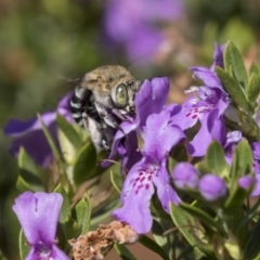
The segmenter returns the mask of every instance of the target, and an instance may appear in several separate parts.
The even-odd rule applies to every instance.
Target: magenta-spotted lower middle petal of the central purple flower
[[[112,213],[118,220],[128,223],[139,234],[150,232],[153,223],[150,200],[154,194],[154,185],[151,174],[146,171],[147,166],[144,160],[132,167],[121,192],[122,207]]]

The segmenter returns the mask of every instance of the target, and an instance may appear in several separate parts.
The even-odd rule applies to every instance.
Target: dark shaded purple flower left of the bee
[[[69,107],[69,101],[72,93],[64,96],[58,105],[56,112],[47,112],[41,115],[41,119],[46,127],[49,129],[54,141],[57,144],[56,136],[56,113],[60,113],[68,121],[73,122],[73,117]],[[20,147],[24,147],[30,155],[36,164],[48,167],[53,158],[52,151],[41,129],[41,123],[38,118],[30,119],[28,121],[20,121],[12,119],[4,128],[4,133],[10,136],[14,136],[15,140],[10,146],[10,152],[17,156]]]

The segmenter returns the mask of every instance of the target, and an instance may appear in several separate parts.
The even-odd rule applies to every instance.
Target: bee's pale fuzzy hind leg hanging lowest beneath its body
[[[107,136],[103,133],[101,125],[93,118],[89,117],[87,113],[82,113],[82,121],[84,129],[90,134],[96,152],[99,153],[101,150],[109,150]]]

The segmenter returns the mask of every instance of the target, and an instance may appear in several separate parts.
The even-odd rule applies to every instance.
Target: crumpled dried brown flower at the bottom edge
[[[113,221],[109,224],[101,224],[96,231],[90,231],[86,235],[68,240],[72,246],[72,259],[74,260],[102,260],[102,248],[118,244],[133,244],[139,235],[130,225]]]

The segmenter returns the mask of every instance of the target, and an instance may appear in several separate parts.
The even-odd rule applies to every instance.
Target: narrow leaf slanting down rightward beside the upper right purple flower
[[[245,109],[247,113],[251,113],[253,110],[253,107],[247,101],[245,92],[242,89],[242,87],[238,84],[238,82],[234,78],[232,78],[229,75],[229,73],[222,69],[221,67],[217,67],[216,73],[221,79],[224,89],[231,95],[232,100],[236,103],[236,105]]]

